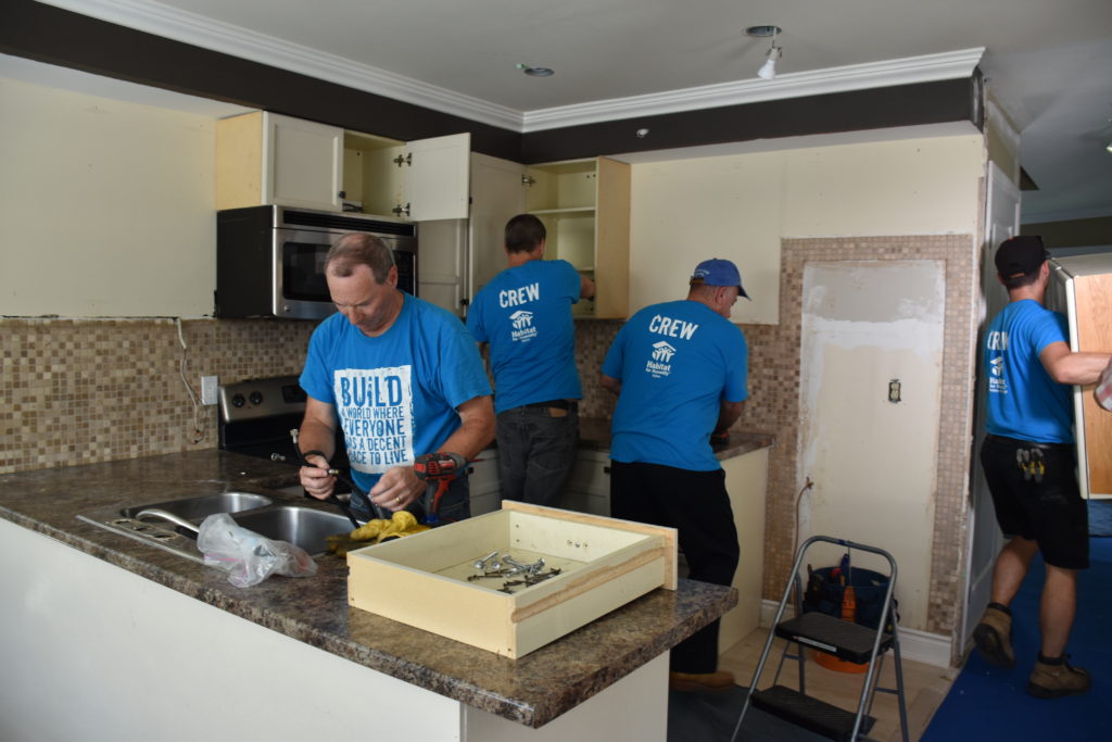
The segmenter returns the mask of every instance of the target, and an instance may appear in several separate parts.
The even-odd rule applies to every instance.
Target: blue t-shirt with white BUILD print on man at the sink
[[[389,329],[368,337],[336,313],[317,327],[300,383],[336,407],[356,484],[437,451],[459,428],[456,407],[488,396],[475,339],[457,317],[404,294]]]

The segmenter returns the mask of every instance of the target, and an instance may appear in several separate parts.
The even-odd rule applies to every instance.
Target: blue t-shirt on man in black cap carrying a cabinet
[[[1033,299],[1012,301],[993,318],[984,339],[989,433],[1073,443],[1071,388],[1052,379],[1039,358],[1059,342],[1069,343],[1065,317]]]

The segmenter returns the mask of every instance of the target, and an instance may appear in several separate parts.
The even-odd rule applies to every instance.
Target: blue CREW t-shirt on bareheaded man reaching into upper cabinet
[[[490,344],[495,412],[550,399],[579,399],[572,305],[579,274],[567,260],[529,260],[483,287],[467,329]]]

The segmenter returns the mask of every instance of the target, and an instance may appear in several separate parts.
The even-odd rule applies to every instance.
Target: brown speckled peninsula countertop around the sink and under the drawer
[[[0,476],[0,517],[218,609],[371,670],[537,728],[733,607],[733,588],[681,580],[530,654],[510,660],[350,607],[347,566],[316,557],[307,578],[254,587],[155,546],[78,521],[79,513],[226,491],[330,509],[276,492],[297,482],[287,464],[201,451]]]

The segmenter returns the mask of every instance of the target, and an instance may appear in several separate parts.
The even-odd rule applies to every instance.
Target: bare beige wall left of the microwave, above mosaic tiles
[[[214,120],[3,78],[0,100],[0,315],[211,315]]]

